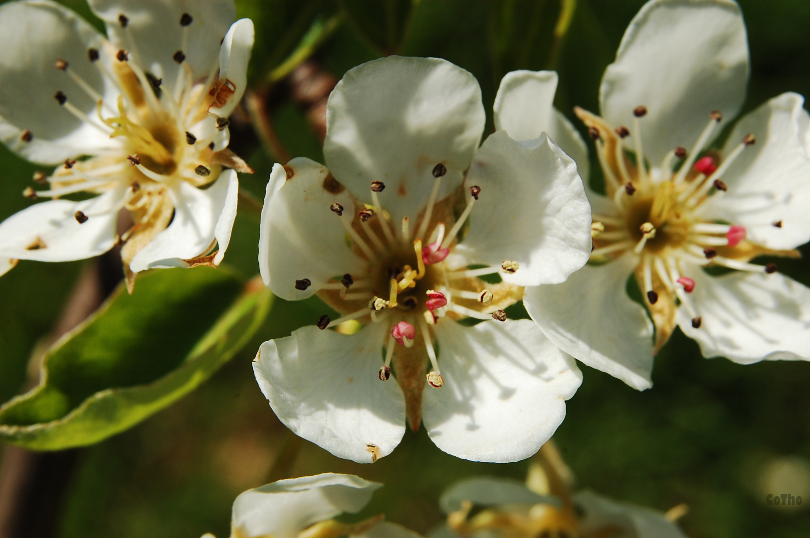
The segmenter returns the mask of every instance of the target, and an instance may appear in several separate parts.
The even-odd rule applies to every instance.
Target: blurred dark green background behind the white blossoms
[[[62,3],[100,26],[83,2]],[[572,117],[573,105],[597,111],[602,72],[643,3],[578,0],[564,36],[555,33],[558,0],[237,0],[237,13],[256,24],[249,76],[281,145],[289,155],[322,162],[307,107],[287,79],[270,76],[313,23],[328,30],[313,60],[335,78],[390,53],[444,57],[470,70],[481,84],[491,126],[497,85],[514,69],[558,70],[557,107]],[[810,2],[740,4],[752,59],[745,110],[782,91],[808,94]],[[241,186],[261,197],[273,159],[245,112],[237,112],[232,125],[232,150],[256,170],[241,175]],[[29,204],[20,193],[34,170],[0,148],[0,219]],[[598,173],[596,163],[591,170]],[[226,263],[250,277],[258,272],[258,218],[244,204],[240,210]],[[780,269],[810,285],[810,249],[803,252],[803,260],[782,261]],[[0,278],[2,401],[30,386],[29,358],[52,330],[86,263],[23,261]],[[524,477],[527,462],[456,460],[433,447],[424,429],[407,431],[394,454],[373,465],[338,460],[296,441],[259,392],[250,360],[261,341],[317,319],[318,303],[276,299],[254,341],[202,388],[134,429],[58,460],[67,462],[66,487],[53,499],[52,536],[181,538],[214,532],[224,538],[231,503],[242,490],[317,472],[382,481],[386,487],[363,515],[384,512],[389,520],[427,532],[441,520],[437,498],[452,481],[476,474]],[[786,483],[779,482],[778,469],[795,481],[810,460],[810,364],[709,361],[678,332],[656,360],[650,391],[636,392],[582,369],[582,388],[555,436],[579,485],[659,510],[685,502],[690,511],[681,525],[693,538],[810,536],[810,487],[805,510],[774,510],[764,502],[767,493],[804,495],[773,489]]]

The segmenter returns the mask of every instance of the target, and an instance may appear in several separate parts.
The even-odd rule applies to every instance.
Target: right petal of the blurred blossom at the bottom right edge
[[[581,531],[586,534],[619,527],[636,538],[686,538],[661,512],[644,506],[616,502],[589,490],[574,494],[573,502],[585,513]]]

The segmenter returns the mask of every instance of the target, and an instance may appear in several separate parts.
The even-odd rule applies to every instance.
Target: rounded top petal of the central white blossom
[[[370,203],[374,180],[394,222],[411,221],[433,189],[433,167],[447,173],[439,198],[463,180],[484,130],[475,77],[438,58],[390,56],[349,70],[329,96],[323,155],[335,177]]]

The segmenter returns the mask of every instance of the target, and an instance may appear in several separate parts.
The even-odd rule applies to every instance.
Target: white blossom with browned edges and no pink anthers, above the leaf
[[[228,116],[245,91],[253,23],[232,0],[89,0],[107,36],[55,2],[0,7],[0,139],[37,173],[0,224],[0,274],[122,242],[127,284],[152,267],[219,265],[237,211]],[[230,27],[230,28],[228,28]],[[227,167],[227,168],[226,168]],[[83,201],[62,197],[96,195]],[[117,235],[117,214],[131,215]]]

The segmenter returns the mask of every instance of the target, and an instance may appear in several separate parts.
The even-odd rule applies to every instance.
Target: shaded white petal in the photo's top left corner
[[[55,2],[0,6],[0,140],[6,146],[35,163],[56,164],[120,145],[54,99],[62,91],[70,104],[96,116],[92,98],[54,62],[68,61],[69,70],[104,95],[104,78],[87,59],[87,49],[103,39],[79,15]],[[25,130],[30,142],[22,139]]]

